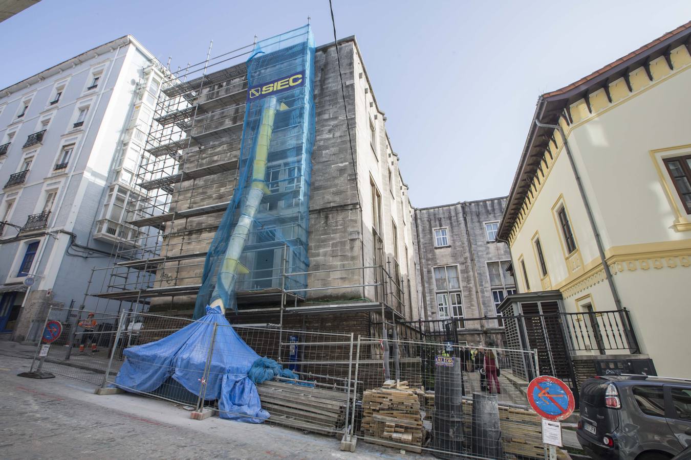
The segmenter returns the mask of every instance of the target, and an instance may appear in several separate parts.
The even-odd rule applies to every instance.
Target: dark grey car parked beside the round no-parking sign
[[[671,459],[691,447],[691,380],[587,379],[580,389],[576,436],[596,459]]]

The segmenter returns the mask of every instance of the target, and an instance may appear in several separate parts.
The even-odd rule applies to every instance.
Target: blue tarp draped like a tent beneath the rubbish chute
[[[247,377],[260,357],[240,339],[219,308],[207,307],[206,311],[205,317],[168,337],[126,348],[115,386],[131,392],[152,392],[172,377],[189,392],[200,394],[216,327],[205,399],[218,399],[222,418],[261,423],[269,413],[261,408],[256,386]]]

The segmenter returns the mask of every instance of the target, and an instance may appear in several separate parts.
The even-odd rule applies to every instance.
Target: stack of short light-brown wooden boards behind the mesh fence
[[[386,381],[362,397],[361,429],[365,441],[422,452],[424,432],[417,388],[408,382]]]

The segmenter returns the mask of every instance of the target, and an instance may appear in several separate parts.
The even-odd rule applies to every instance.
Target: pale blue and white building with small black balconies
[[[145,236],[125,211],[147,193],[133,174],[164,72],[128,35],[0,90],[1,338],[35,339],[47,306],[82,305],[91,269]]]

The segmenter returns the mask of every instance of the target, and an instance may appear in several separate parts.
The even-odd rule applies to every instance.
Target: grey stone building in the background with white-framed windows
[[[509,248],[497,241],[505,204],[500,197],[415,209],[419,290],[430,331],[453,319],[461,343],[501,343],[496,308],[516,292]]]

